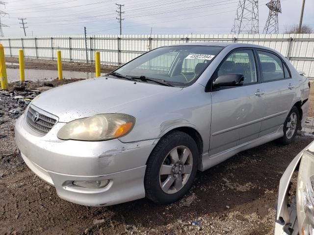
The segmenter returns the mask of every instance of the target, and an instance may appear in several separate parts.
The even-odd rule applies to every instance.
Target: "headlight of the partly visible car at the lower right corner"
[[[314,155],[301,159],[297,183],[297,218],[300,235],[314,235]]]

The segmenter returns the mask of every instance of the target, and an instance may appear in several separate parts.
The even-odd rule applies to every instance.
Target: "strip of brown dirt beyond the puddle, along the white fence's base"
[[[19,58],[17,57],[7,57],[5,62],[8,63],[19,63]],[[25,69],[36,69],[36,70],[57,70],[56,60],[39,60],[39,59],[24,59]],[[11,69],[19,69],[19,65],[6,66]],[[101,72],[110,72],[117,67],[101,65]],[[78,62],[67,62],[62,61],[62,69],[64,71],[84,71],[84,72],[94,72],[95,64],[86,64]]]

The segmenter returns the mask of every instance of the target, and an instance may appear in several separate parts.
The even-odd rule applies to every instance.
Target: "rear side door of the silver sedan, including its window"
[[[276,132],[284,124],[295,94],[288,67],[274,52],[257,49],[263,81],[265,114],[260,137]]]

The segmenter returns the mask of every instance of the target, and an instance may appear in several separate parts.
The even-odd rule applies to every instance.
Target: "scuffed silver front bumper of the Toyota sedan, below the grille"
[[[45,136],[30,129],[21,116],[15,139],[27,166],[53,185],[59,197],[86,206],[109,206],[145,197],[146,161],[158,140],[123,143],[62,141],[57,123]],[[72,182],[110,180],[105,188],[82,188]]]

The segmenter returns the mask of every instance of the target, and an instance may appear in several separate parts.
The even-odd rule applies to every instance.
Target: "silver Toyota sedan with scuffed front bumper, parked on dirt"
[[[268,141],[293,141],[310,83],[273,49],[160,47],[37,96],[15,125],[29,168],[68,201],[179,200],[204,171]]]

